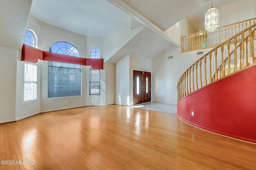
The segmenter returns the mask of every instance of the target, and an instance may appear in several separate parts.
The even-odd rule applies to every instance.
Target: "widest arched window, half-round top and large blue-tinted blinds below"
[[[80,57],[78,49],[67,42],[54,43],[49,51]],[[81,96],[81,72],[81,65],[49,61],[48,98]]]

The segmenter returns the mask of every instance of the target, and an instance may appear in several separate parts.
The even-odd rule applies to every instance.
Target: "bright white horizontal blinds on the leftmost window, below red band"
[[[37,65],[24,64],[24,101],[36,100],[37,94]]]

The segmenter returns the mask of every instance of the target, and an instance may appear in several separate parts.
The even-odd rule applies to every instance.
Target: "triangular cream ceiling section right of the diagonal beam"
[[[170,28],[209,0],[122,0],[162,31]]]

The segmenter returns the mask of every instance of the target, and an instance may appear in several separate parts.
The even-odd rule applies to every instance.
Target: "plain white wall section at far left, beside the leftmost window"
[[[0,46],[0,123],[15,121],[18,50]]]

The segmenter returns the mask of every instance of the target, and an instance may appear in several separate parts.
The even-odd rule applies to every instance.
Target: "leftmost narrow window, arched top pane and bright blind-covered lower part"
[[[25,32],[26,45],[35,47],[35,37],[29,30]],[[37,98],[37,64],[24,63],[24,97],[23,101],[36,100]]]

